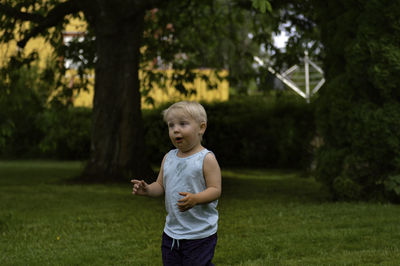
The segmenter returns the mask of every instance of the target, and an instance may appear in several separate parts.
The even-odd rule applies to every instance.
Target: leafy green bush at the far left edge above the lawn
[[[44,109],[45,91],[38,86],[37,66],[14,59],[0,68],[0,156],[21,158],[37,153],[42,138],[35,119]]]

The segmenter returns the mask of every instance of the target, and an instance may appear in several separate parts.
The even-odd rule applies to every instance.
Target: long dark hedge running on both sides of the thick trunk
[[[203,144],[216,154],[221,166],[306,168],[310,165],[310,142],[315,132],[312,104],[246,97],[203,105],[208,115]],[[155,166],[173,148],[161,116],[167,106],[143,111],[147,156]],[[91,109],[44,110],[15,129],[15,136],[10,136],[0,155],[85,160],[89,158],[90,130]],[[35,136],[35,142],[29,141],[31,136]],[[18,152],[4,152],[7,150]]]

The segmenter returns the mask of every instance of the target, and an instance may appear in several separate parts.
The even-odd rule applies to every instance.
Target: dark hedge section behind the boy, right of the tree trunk
[[[208,128],[204,145],[223,166],[306,168],[315,133],[313,105],[297,100],[267,101],[244,97],[204,103]],[[144,112],[146,144],[152,163],[159,164],[172,147],[161,111]]]

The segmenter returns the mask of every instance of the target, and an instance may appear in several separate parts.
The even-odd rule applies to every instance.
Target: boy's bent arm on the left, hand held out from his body
[[[143,180],[136,180],[136,179],[131,180],[131,182],[133,183],[132,194],[150,196],[150,197],[158,197],[164,195],[164,186],[163,186],[164,161],[165,161],[165,156],[162,160],[157,180],[151,183],[150,185],[144,182]]]

